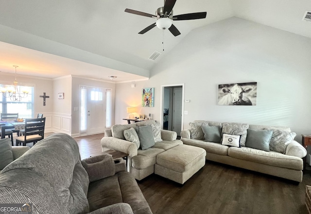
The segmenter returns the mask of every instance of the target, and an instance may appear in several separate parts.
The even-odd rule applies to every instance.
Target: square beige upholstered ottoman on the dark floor
[[[184,184],[205,165],[206,150],[178,145],[156,156],[155,174]]]

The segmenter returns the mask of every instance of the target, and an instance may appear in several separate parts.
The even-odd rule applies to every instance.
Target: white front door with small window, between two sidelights
[[[87,87],[86,134],[105,130],[105,93],[103,88]]]

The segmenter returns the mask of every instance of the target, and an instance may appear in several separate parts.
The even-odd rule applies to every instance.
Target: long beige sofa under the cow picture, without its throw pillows
[[[202,123],[206,123],[209,126],[219,126],[222,128],[222,132],[224,130],[222,127],[224,123],[220,122],[196,120],[192,124]],[[288,127],[271,127],[260,125],[247,125],[246,127],[247,130],[272,129],[291,132],[290,128]],[[241,148],[228,147],[222,145],[220,142],[214,143],[206,142],[204,139],[191,139],[193,138],[191,136],[191,132],[195,133],[194,129],[195,127],[183,130],[181,132],[181,140],[184,144],[204,148],[207,151],[207,160],[237,166],[240,168],[245,168],[293,181],[302,181],[302,158],[307,155],[307,151],[303,146],[294,140],[287,145],[286,151],[284,153],[280,153],[277,151],[264,151],[256,148],[248,148],[245,146],[242,146]]]

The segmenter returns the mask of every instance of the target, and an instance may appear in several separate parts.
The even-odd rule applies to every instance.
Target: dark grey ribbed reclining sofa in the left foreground
[[[0,174],[0,203],[32,206],[33,214],[152,214],[123,159],[80,160],[76,141],[52,134]]]

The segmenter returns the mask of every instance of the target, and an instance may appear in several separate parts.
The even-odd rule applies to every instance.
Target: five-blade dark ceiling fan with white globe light
[[[169,31],[174,35],[180,35],[180,32],[177,30],[177,28],[173,25],[172,21],[178,21],[178,20],[191,20],[191,19],[200,19],[200,18],[206,18],[207,12],[200,12],[200,13],[191,13],[191,14],[182,14],[173,16],[173,7],[175,5],[176,0],[164,0],[164,7],[160,7],[156,10],[155,15],[147,14],[144,12],[131,10],[131,9],[125,9],[125,12],[136,14],[139,16],[147,16],[151,18],[156,18],[156,22],[152,25],[149,25],[145,29],[143,29],[139,34],[144,34],[151,29],[153,29],[155,26],[159,29],[169,29]]]

